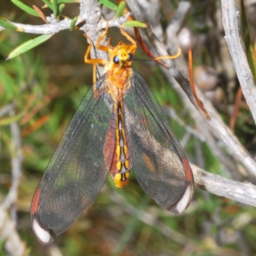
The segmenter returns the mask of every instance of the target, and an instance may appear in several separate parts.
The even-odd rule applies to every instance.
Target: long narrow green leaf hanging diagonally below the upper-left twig
[[[24,44],[19,45],[16,47],[10,54],[8,55],[8,58],[6,60],[10,60],[12,58],[15,58],[19,54],[22,54],[26,51],[29,51],[30,49],[35,48],[37,45],[40,45],[47,41],[49,38],[51,38],[54,34],[47,34],[47,35],[40,35],[34,39],[28,40]]]

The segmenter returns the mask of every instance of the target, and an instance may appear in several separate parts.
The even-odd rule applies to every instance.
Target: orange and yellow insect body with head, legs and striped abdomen
[[[104,65],[104,73],[106,74],[106,92],[108,92],[113,100],[113,113],[116,114],[115,118],[111,118],[111,124],[109,125],[106,143],[104,145],[104,157],[106,166],[109,166],[109,172],[111,173],[111,177],[115,182],[116,187],[124,188],[128,183],[129,171],[132,168],[132,164],[124,127],[123,97],[131,88],[131,80],[129,79],[132,75],[131,56],[133,56],[136,51],[137,45],[131,36],[125,33],[122,29],[121,33],[132,42],[132,45],[125,45],[122,41],[120,41],[116,47],[111,47],[110,45],[109,47],[104,47],[99,45],[107,31],[108,30],[106,29],[100,36],[97,42],[97,48],[102,49],[103,51],[108,51],[109,60],[111,61],[106,62],[99,59],[88,60],[90,47],[88,47],[88,50],[86,51],[84,61],[86,63],[98,63]]]

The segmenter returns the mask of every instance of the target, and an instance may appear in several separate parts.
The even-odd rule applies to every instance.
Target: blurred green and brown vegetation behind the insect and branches
[[[31,2],[42,6],[40,0],[24,1],[30,5]],[[215,43],[220,38],[213,37],[214,26],[217,26],[215,15],[220,12],[220,6],[216,1],[206,1],[207,5],[204,1],[192,2],[193,8],[184,26],[188,30],[183,33],[189,31],[191,40],[201,45],[194,54],[195,79],[199,79],[197,83],[200,84],[200,76],[213,76],[206,79],[215,79],[213,85],[202,83],[211,89],[202,87],[202,90],[210,95],[228,124],[239,83],[234,77],[231,82],[227,81],[230,76],[216,68],[214,54],[218,44]],[[163,27],[172,19],[178,4],[179,1],[174,0],[161,1]],[[1,0],[0,6],[0,15],[9,20],[43,24],[11,1]],[[249,7],[253,8],[252,13],[256,12],[253,4]],[[51,12],[44,10],[44,13]],[[67,4],[65,15],[74,17],[78,13],[78,4]],[[254,43],[256,22],[251,23],[254,24],[250,26]],[[118,42],[119,35],[117,30],[110,29],[112,41]],[[174,216],[160,209],[143,193],[133,173],[124,189],[115,188],[108,179],[93,205],[79,216],[74,226],[59,237],[54,236],[54,244],[42,246],[31,229],[31,200],[68,122],[92,85],[92,67],[84,64],[88,45],[81,31],[61,31],[35,49],[5,61],[9,52],[30,38],[33,35],[8,29],[0,32],[0,114],[13,106],[12,111],[0,116],[0,204],[12,185],[13,134],[10,125],[13,122],[19,125],[23,156],[17,204],[11,205],[0,225],[4,226],[7,218],[14,221],[26,250],[24,255],[256,255],[255,208],[196,189],[194,200],[184,214]],[[182,41],[182,33],[180,38]],[[146,58],[140,51],[137,54],[137,58]],[[134,63],[134,68],[147,79],[162,106],[172,107],[184,123],[193,126],[182,100],[155,63]],[[228,88],[227,84],[232,87]],[[234,131],[244,147],[254,154],[255,124],[243,99],[236,116]],[[184,127],[175,120],[171,124],[189,161],[204,163],[205,170],[226,175],[206,143],[194,136],[186,140]],[[202,152],[200,160],[196,154],[198,147]],[[0,228],[0,255],[8,255],[5,249],[8,237],[2,232],[3,226]]]

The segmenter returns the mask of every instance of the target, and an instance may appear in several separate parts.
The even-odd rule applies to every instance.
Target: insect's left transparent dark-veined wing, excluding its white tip
[[[111,99],[104,90],[104,77],[97,82],[97,91],[97,99],[92,88],[86,93],[40,181],[36,191],[40,196],[33,202],[38,209],[32,204],[40,226],[56,234],[67,230],[92,204],[108,175],[103,148]]]

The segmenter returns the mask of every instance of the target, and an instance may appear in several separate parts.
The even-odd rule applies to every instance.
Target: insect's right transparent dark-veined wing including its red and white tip
[[[163,110],[136,71],[124,96],[124,113],[132,166],[141,188],[164,209],[181,213],[193,196],[191,168]]]

